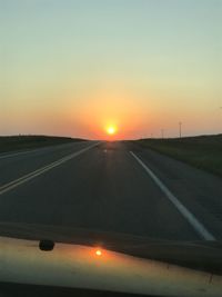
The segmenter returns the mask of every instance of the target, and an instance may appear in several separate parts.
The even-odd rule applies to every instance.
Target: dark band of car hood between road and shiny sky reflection
[[[178,241],[61,226],[0,224],[0,236],[101,247],[144,259],[222,275],[222,241]]]

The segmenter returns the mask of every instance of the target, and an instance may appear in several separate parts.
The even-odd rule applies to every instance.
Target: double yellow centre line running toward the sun
[[[52,162],[50,165],[41,167],[41,168],[39,168],[39,169],[37,169],[37,170],[26,175],[26,176],[22,176],[22,177],[20,177],[18,179],[14,179],[14,180],[1,186],[0,187],[0,195],[2,195],[4,192],[8,192],[8,191],[17,188],[18,186],[20,186],[20,185],[22,185],[22,184],[24,184],[24,182],[38,177],[38,176],[51,170],[52,168],[58,167],[58,166],[60,166],[60,165],[62,165],[62,164],[64,164],[64,162],[67,162],[67,161],[69,161],[71,159],[75,158],[77,156],[79,156],[79,155],[85,152],[87,150],[98,146],[99,143],[100,142],[97,142],[97,143],[94,143],[92,146],[89,146],[87,148],[83,148],[83,149],[81,149],[81,150],[79,150],[79,151],[77,151],[74,154],[68,155],[68,156],[65,156],[65,157],[63,157],[63,158],[61,158],[61,159],[59,159],[59,160],[57,160],[57,161],[54,161],[54,162]]]

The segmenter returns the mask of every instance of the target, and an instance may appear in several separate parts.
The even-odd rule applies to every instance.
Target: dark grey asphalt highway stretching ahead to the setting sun
[[[124,141],[1,155],[0,221],[221,239],[222,182]]]

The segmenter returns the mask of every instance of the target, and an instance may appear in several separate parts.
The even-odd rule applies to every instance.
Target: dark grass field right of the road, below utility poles
[[[222,135],[141,139],[137,142],[222,177]]]

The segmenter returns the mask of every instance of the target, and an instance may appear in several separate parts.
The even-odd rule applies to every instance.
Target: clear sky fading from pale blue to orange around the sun
[[[222,132],[221,0],[0,0],[0,135]]]

